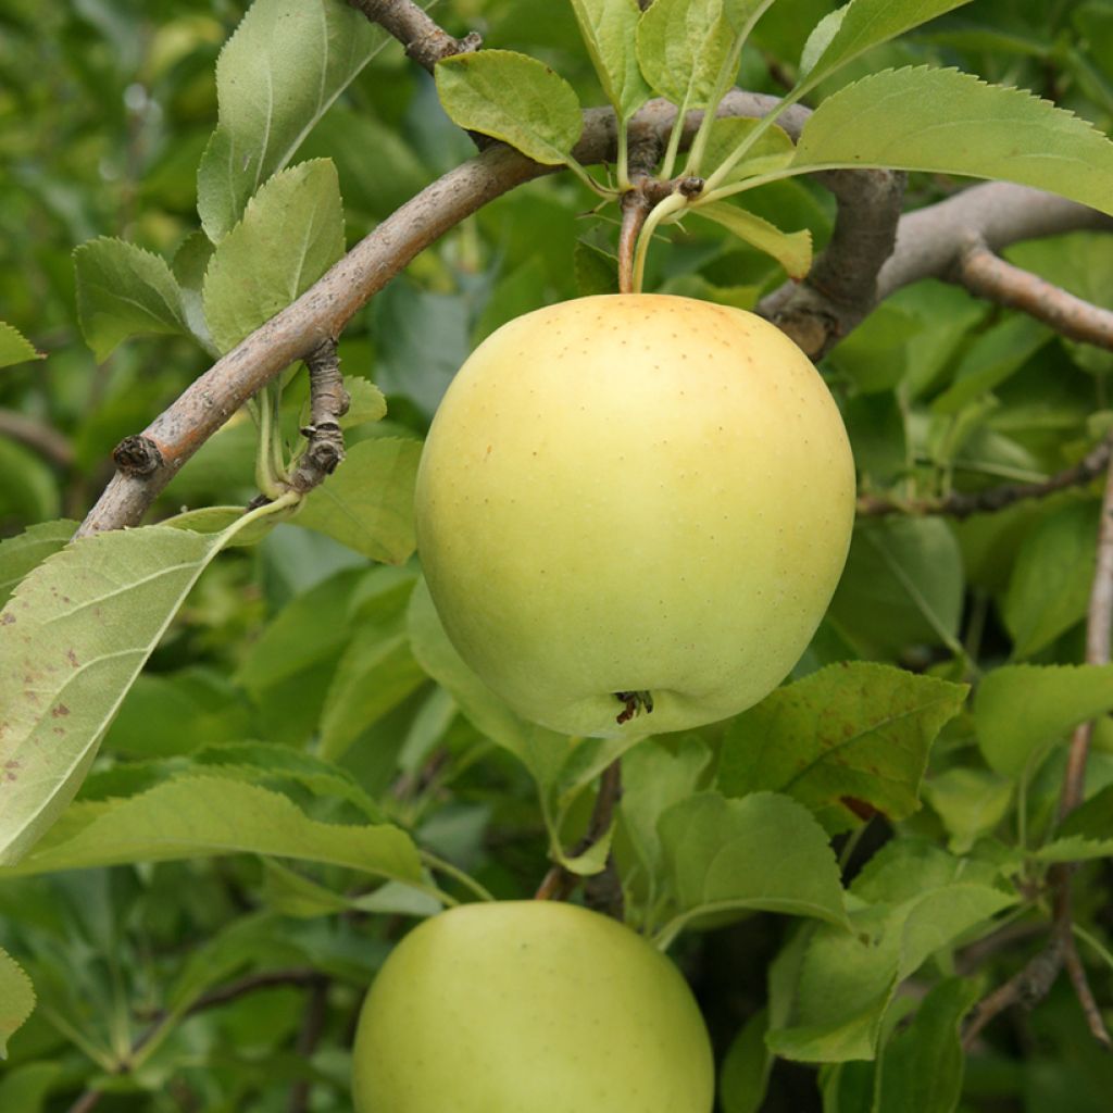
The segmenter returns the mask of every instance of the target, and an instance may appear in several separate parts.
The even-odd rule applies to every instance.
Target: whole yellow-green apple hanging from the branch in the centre
[[[430,430],[415,523],[471,668],[526,719],[612,737],[776,688],[830,602],[854,510],[838,407],[780,329],[620,294],[476,348]],[[620,692],[652,713],[623,716]]]

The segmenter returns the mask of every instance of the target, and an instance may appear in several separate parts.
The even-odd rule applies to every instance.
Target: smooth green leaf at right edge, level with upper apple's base
[[[978,684],[974,722],[989,767],[1031,772],[1080,722],[1113,710],[1113,664],[1011,664]]]

